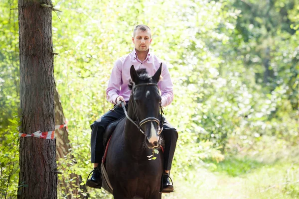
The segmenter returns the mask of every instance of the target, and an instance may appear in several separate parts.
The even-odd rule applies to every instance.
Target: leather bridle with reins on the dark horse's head
[[[135,89],[138,88],[138,87],[146,87],[146,86],[154,86],[154,87],[157,87],[158,88],[158,85],[157,84],[154,84],[154,83],[146,83],[146,84],[139,84],[139,85],[133,85],[133,88],[132,88],[132,100],[133,100],[133,110],[134,110],[134,114],[136,116],[136,122],[133,121],[127,114],[127,110],[126,110],[126,107],[125,107],[125,104],[124,104],[124,101],[119,101],[118,104],[116,105],[119,105],[119,103],[122,104],[122,107],[125,111],[125,114],[126,114],[126,117],[135,125],[137,126],[138,130],[140,130],[143,134],[145,134],[145,131],[142,129],[142,125],[149,122],[149,121],[154,121],[154,122],[157,122],[158,126],[159,126],[159,130],[158,130],[158,134],[160,134],[163,130],[163,119],[162,119],[162,114],[164,114],[163,112],[163,107],[161,105],[161,102],[159,103],[159,107],[160,107],[160,119],[157,119],[155,117],[147,117],[143,120],[140,121],[139,117],[138,117],[138,114],[137,114],[137,109],[136,109],[136,101],[135,101]]]

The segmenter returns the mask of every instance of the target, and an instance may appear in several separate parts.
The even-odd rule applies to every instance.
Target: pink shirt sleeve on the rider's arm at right
[[[161,91],[162,106],[169,105],[173,100],[173,84],[166,64],[162,64],[162,80],[159,81],[159,89]]]

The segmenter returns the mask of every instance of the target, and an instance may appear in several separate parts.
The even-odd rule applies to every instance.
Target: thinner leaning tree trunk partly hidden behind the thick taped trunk
[[[55,124],[56,126],[61,125],[60,127],[58,127],[57,130],[55,130],[57,150],[56,158],[57,160],[59,160],[60,158],[67,158],[68,160],[72,161],[72,164],[76,164],[76,161],[74,160],[74,157],[71,154],[71,146],[70,141],[68,139],[68,128],[67,126],[63,125],[66,123],[66,121],[57,89],[55,89],[54,100]],[[58,161],[58,168],[60,169],[59,163],[60,161]],[[71,165],[68,166],[70,167]],[[70,181],[70,179],[73,179],[73,181]],[[64,194],[62,193],[62,196],[67,199],[74,199],[74,196],[80,199],[87,199],[89,197],[87,189],[84,185],[81,186],[80,183],[82,183],[82,178],[80,175],[72,173],[68,176],[67,174],[63,174],[62,181],[59,181],[59,186],[63,188],[61,190],[64,192]]]

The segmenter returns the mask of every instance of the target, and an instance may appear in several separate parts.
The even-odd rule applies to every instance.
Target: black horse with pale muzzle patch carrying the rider
[[[163,173],[160,149],[160,102],[157,83],[161,67],[153,76],[145,69],[131,67],[131,96],[127,117],[115,127],[103,166],[115,199],[159,199]],[[162,110],[161,110],[162,111]],[[136,121],[136,122],[135,122]],[[153,149],[159,151],[149,160]],[[103,168],[102,168],[103,169]],[[107,187],[104,185],[103,187]]]

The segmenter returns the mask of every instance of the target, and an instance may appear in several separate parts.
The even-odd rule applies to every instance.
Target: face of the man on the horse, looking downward
[[[135,48],[140,52],[149,50],[151,43],[150,33],[148,31],[136,30],[135,36],[132,37]]]

